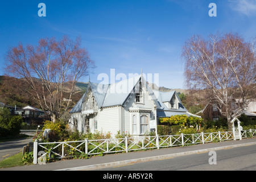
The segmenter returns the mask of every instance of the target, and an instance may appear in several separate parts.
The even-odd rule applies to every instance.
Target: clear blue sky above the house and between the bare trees
[[[46,4],[46,17],[38,4]],[[210,17],[210,3],[217,16]],[[9,46],[36,44],[40,38],[82,38],[100,73],[159,73],[159,86],[184,88],[181,48],[194,34],[208,36],[238,32],[246,40],[256,36],[255,0],[119,0],[119,1],[1,1],[0,75]],[[81,81],[88,81],[88,77]]]

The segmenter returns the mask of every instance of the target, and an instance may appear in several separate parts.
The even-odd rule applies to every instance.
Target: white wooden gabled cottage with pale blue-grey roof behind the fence
[[[175,91],[158,92],[142,75],[114,84],[89,82],[88,89],[72,108],[69,126],[81,133],[102,131],[116,134],[157,134],[158,119],[186,114]]]

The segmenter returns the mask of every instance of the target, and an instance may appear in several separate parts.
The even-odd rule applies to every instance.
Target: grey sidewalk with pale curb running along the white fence
[[[35,164],[13,168],[3,168],[0,171],[52,171],[52,170],[93,170],[103,167],[121,166],[129,163],[143,162],[148,160],[159,160],[179,155],[196,154],[199,152],[217,151],[230,147],[241,147],[255,144],[256,138],[242,140],[228,140],[218,143],[195,144],[184,147],[160,148],[160,150],[134,151],[121,154],[108,154],[94,156],[90,159],[60,160],[59,162],[47,163],[44,165]]]

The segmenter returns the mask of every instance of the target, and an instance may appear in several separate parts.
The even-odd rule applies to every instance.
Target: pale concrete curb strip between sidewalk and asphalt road
[[[104,164],[93,164],[93,165],[89,165],[89,166],[57,169],[55,171],[79,171],[79,170],[90,171],[93,169],[113,167],[113,166],[122,166],[122,165],[126,165],[126,164],[131,164],[131,163],[146,162],[146,161],[150,161],[150,160],[160,160],[160,159],[172,158],[172,157],[181,156],[181,155],[191,155],[191,154],[197,154],[200,152],[216,151],[216,150],[221,150],[221,149],[225,149],[225,148],[250,146],[252,144],[256,144],[256,142],[234,144],[234,145],[222,146],[222,147],[205,148],[205,149],[201,149],[201,150],[179,152],[179,153],[175,153],[175,154],[167,154],[167,155],[160,155],[160,156],[151,156],[151,157],[140,158],[140,159],[122,160],[122,161],[118,161],[118,162],[111,162],[111,163],[104,163]]]

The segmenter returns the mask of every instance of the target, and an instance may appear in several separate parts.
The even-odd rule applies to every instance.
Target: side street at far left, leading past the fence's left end
[[[32,138],[16,139],[0,143],[0,161],[22,152],[23,146],[26,146],[29,142],[32,142]]]

